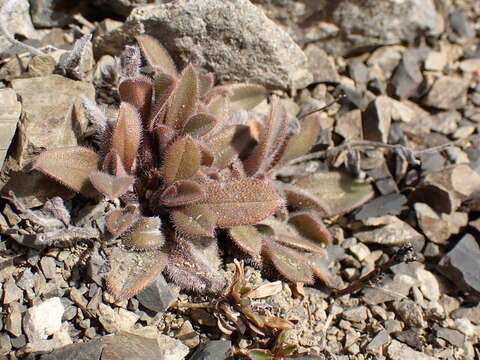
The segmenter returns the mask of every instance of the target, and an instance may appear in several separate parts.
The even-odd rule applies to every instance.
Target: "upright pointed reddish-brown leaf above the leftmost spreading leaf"
[[[142,124],[137,110],[128,104],[120,104],[118,120],[112,134],[112,148],[122,159],[125,170],[132,172],[140,145]]]

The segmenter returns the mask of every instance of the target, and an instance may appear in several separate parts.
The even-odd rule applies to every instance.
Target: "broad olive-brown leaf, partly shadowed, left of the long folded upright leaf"
[[[234,125],[209,139],[206,147],[215,158],[212,166],[221,170],[241,156],[253,143],[248,126]]]

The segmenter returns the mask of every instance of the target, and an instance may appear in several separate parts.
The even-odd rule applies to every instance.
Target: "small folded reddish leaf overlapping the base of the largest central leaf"
[[[204,197],[205,192],[196,182],[178,180],[164,190],[160,200],[165,206],[182,206],[199,202]]]

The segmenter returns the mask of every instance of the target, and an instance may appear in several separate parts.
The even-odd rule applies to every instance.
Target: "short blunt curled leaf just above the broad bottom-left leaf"
[[[134,250],[159,249],[165,243],[159,217],[142,217],[123,236],[123,243]]]

